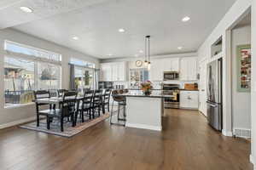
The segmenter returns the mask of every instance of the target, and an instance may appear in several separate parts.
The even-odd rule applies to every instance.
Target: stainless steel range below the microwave
[[[172,95],[172,98],[166,98],[164,102],[164,107],[166,109],[178,109],[179,108],[179,84],[167,84],[164,83],[163,94]]]

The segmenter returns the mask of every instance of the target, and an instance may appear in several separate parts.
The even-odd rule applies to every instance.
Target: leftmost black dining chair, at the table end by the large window
[[[38,101],[37,101],[37,99],[49,99],[50,98],[50,93],[47,90],[34,91],[34,98],[35,98],[36,112],[37,112],[37,127],[39,127],[40,116],[45,116],[44,114],[41,114],[40,107],[43,105],[49,105],[49,110],[52,110],[53,106],[50,104],[46,104],[46,103],[38,103]]]

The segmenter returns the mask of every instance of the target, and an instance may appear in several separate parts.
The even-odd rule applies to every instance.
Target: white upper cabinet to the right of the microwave
[[[195,81],[197,79],[197,58],[189,57],[180,60],[180,80]]]

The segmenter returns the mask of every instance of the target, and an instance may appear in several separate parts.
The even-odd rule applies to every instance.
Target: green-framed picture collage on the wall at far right
[[[251,91],[251,68],[252,55],[251,45],[239,45],[236,47],[237,61],[237,91],[250,93]]]

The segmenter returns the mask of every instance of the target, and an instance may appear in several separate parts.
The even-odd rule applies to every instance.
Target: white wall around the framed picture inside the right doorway
[[[251,129],[251,94],[237,92],[238,45],[251,44],[251,26],[242,26],[232,30],[232,116],[233,132],[235,128]]]

